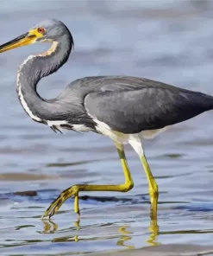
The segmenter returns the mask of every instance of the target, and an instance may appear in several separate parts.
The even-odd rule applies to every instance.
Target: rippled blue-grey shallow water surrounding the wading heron
[[[22,0],[0,4],[0,44],[47,17],[66,22],[72,31],[75,51],[57,74],[41,81],[39,93],[43,97],[56,96],[71,80],[100,74],[147,77],[213,94],[211,1],[38,4]],[[40,220],[60,191],[74,183],[123,180],[109,138],[71,131],[55,134],[23,112],[15,90],[16,67],[28,54],[46,48],[34,45],[0,55],[0,253],[81,255],[176,244],[210,249],[212,112],[143,141],[160,189],[157,223],[150,222],[147,180],[128,146],[133,190],[122,195],[90,193],[89,197],[82,193],[79,223],[72,199],[64,203],[53,222]],[[31,192],[16,193],[23,191]],[[183,246],[178,248],[181,252]]]

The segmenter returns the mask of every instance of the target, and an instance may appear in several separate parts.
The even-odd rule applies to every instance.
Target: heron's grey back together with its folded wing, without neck
[[[128,76],[73,81],[60,101],[115,131],[137,133],[173,125],[213,108],[213,98],[154,80]],[[83,119],[82,119],[83,121]]]

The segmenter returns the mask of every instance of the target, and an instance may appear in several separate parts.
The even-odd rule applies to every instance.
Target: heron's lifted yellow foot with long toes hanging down
[[[49,219],[53,216],[53,214],[56,214],[58,210],[60,209],[63,202],[65,202],[68,198],[70,198],[72,195],[74,196],[74,212],[78,214],[78,220],[79,220],[79,207],[78,207],[78,185],[74,185],[66,190],[64,190],[47,208],[41,219],[44,219],[46,217],[49,217]]]

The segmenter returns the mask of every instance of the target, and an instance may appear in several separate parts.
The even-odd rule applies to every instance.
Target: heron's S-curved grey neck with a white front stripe
[[[28,56],[17,73],[16,91],[24,110],[37,122],[45,122],[53,117],[53,100],[42,99],[36,87],[41,78],[53,74],[68,60],[72,42],[63,38],[61,42],[53,42],[47,52]],[[56,107],[56,106],[55,106]]]

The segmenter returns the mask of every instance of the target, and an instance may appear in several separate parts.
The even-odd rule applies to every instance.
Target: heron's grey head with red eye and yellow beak
[[[73,45],[72,35],[63,22],[54,19],[46,20],[34,25],[27,33],[0,45],[0,53],[34,42],[60,42],[63,37],[68,37]]]

